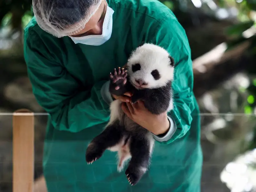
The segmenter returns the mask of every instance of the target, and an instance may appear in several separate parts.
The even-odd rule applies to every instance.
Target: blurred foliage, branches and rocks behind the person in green
[[[201,110],[202,192],[256,191],[256,1],[161,0],[185,28]],[[0,192],[12,191],[12,116],[44,112],[23,58],[31,0],[0,0]],[[47,116],[35,116],[35,179]]]

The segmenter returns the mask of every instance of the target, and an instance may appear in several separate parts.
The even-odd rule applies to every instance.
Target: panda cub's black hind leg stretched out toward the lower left
[[[88,145],[86,150],[86,162],[92,164],[99,159],[103,152],[117,145],[124,137],[123,127],[120,126],[119,120],[107,125],[103,132],[96,136]]]

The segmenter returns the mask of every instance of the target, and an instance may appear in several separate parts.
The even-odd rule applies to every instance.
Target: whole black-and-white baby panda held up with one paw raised
[[[174,60],[164,48],[142,44],[132,52],[126,69],[119,67],[110,73],[111,94],[132,92],[131,102],[142,100],[152,114],[172,110]],[[120,100],[111,103],[110,120],[88,145],[86,161],[93,163],[106,149],[117,151],[117,170],[121,172],[130,159],[125,174],[130,184],[136,185],[148,169],[154,139],[151,132],[124,114],[121,104]]]

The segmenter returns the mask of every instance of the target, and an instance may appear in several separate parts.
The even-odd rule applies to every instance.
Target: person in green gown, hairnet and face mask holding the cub
[[[43,173],[48,192],[199,192],[202,171],[199,108],[193,93],[191,51],[173,12],[157,0],[33,0],[24,29],[24,58],[38,103],[49,113]],[[117,172],[116,153],[85,161],[89,142],[108,123],[109,73],[126,64],[142,42],[164,47],[175,61],[174,108],[161,120],[137,108],[152,132],[149,170],[131,186]],[[141,115],[142,114],[142,115]],[[166,121],[168,118],[172,120]],[[163,121],[163,122],[161,122]]]

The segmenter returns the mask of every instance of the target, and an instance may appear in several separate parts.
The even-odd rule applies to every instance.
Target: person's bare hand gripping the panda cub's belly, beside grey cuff
[[[143,101],[138,100],[136,103],[122,103],[124,113],[135,123],[144,127],[155,135],[165,133],[170,122],[167,118],[167,112],[161,115],[154,115],[145,108]]]

